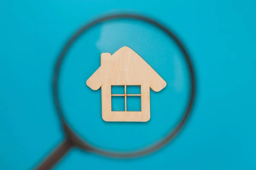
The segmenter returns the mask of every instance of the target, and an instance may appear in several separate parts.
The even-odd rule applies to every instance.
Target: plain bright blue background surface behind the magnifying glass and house
[[[93,18],[131,11],[172,28],[188,48],[197,78],[193,114],[174,142],[151,155],[119,160],[74,149],[55,169],[255,170],[255,7],[253,0],[1,0],[0,169],[32,169],[63,140],[51,82],[66,40]],[[147,123],[104,122],[100,89],[85,85],[99,67],[99,54],[124,45],[167,82],[163,91],[151,91]],[[176,125],[188,96],[187,74],[177,47],[154,27],[105,23],[70,50],[61,74],[61,104],[70,125],[88,142],[134,150]]]

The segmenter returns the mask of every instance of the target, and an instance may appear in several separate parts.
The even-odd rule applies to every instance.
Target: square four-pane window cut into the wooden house
[[[111,85],[112,111],[141,111],[140,85]]]

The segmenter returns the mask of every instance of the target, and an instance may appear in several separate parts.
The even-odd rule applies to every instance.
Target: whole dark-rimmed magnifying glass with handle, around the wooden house
[[[95,39],[93,30],[98,30],[100,37]],[[134,30],[138,33],[132,35]],[[85,85],[99,67],[100,53],[113,54],[126,45],[136,48],[167,82],[163,92],[150,92],[148,122],[104,122],[100,91]],[[174,139],[189,118],[195,98],[195,73],[184,45],[168,28],[148,17],[112,14],[93,20],[70,38],[55,64],[52,88],[65,140],[36,170],[51,169],[72,147],[115,158],[133,158],[160,149]],[[134,101],[129,105],[133,107]]]

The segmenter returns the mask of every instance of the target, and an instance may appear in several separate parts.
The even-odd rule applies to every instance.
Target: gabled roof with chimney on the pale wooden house
[[[102,53],[101,66],[86,84],[98,90],[104,83],[110,85],[148,85],[153,91],[166,87],[166,82],[131,48],[124,46],[114,54]]]

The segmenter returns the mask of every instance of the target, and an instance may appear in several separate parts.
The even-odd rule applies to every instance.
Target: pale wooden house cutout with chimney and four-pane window
[[[147,122],[150,119],[150,88],[161,91],[165,80],[131,48],[124,46],[114,54],[102,53],[101,66],[87,79],[93,90],[102,88],[102,119],[107,122]],[[123,85],[124,94],[111,94],[111,86]],[[141,94],[126,94],[129,85],[140,85]],[[112,97],[125,96],[125,111],[112,111]],[[141,97],[141,111],[127,111],[127,96]]]

